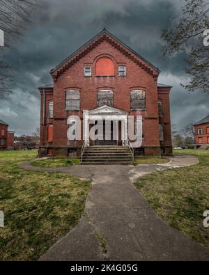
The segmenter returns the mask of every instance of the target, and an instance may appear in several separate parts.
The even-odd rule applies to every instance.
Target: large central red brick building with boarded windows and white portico
[[[169,92],[157,84],[160,70],[106,29],[51,70],[54,84],[40,90],[40,156],[80,155],[82,145],[127,145],[127,116],[142,116],[143,143],[136,155],[171,154]],[[117,113],[118,139],[89,139],[91,123],[83,116]],[[82,140],[67,137],[69,116],[82,121]],[[75,123],[72,121],[71,123]]]

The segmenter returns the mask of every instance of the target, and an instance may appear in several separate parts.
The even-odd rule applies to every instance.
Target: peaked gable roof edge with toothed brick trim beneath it
[[[147,61],[144,57],[135,52],[129,46],[125,45],[125,43],[123,43],[121,40],[116,38],[116,36],[114,36],[109,31],[107,31],[107,29],[104,28],[102,31],[100,31],[100,33],[91,38],[91,40],[88,40],[88,42],[86,42],[82,47],[70,54],[70,56],[65,58],[64,61],[59,63],[59,65],[57,65],[54,69],[50,71],[50,73],[54,77],[54,80],[56,80],[56,78],[59,77],[60,74],[65,72],[65,70],[68,70],[71,65],[79,61],[80,58],[85,56],[89,51],[91,51],[91,49],[97,47],[104,40],[109,42],[109,44],[111,44],[113,47],[116,47],[119,51],[123,52],[123,54],[132,59],[132,61],[134,61],[134,63],[137,63],[137,65],[139,65],[141,68],[148,71],[148,73],[153,75],[157,74],[157,76],[160,73],[160,70],[155,67],[155,65]]]

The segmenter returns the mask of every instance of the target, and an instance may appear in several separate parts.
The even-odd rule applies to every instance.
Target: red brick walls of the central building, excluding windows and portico
[[[109,58],[114,63],[114,76],[98,77],[95,74],[97,61]],[[118,66],[126,68],[125,77],[118,76]],[[84,77],[84,66],[91,66],[91,77]],[[113,107],[128,111],[131,116],[143,117],[143,155],[171,154],[171,120],[169,92],[171,86],[157,84],[160,71],[133,52],[106,30],[90,40],[51,71],[52,86],[40,87],[40,156],[80,154],[83,141],[68,141],[67,119],[75,115],[83,118],[83,110],[98,107],[98,91],[113,91]],[[145,91],[146,107],[132,110],[130,91]],[[65,111],[65,92],[80,92],[80,110]],[[158,101],[162,102],[159,117]],[[49,118],[49,102],[54,103],[53,118]],[[48,141],[48,127],[53,125],[53,141]],[[159,125],[162,125],[164,141],[160,141]],[[138,150],[135,150],[136,154]]]

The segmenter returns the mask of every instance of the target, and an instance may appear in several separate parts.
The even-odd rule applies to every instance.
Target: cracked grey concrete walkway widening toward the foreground
[[[84,217],[40,260],[209,260],[208,249],[162,221],[132,184],[147,173],[197,162],[193,156],[178,156],[168,164],[140,166],[38,168],[21,164],[26,169],[93,179]]]

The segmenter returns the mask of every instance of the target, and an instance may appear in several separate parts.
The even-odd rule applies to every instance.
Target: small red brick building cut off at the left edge
[[[14,147],[14,134],[8,131],[8,124],[0,120],[0,150]]]

